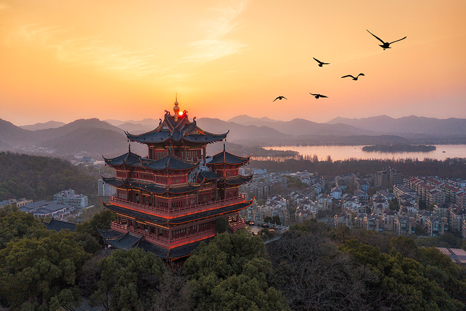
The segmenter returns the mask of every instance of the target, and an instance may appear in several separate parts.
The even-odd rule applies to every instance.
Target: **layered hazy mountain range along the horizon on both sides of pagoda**
[[[277,121],[266,117],[236,116],[223,121],[200,118],[203,130],[248,146],[277,144],[394,144],[466,143],[466,119],[409,116],[399,119],[377,116],[362,119],[335,118],[326,123],[304,119]],[[48,152],[52,155],[86,154],[95,158],[117,156],[128,148],[124,131],[140,134],[153,130],[159,120],[140,121],[80,119],[68,124],[49,121],[16,126],[0,119],[0,150]],[[48,127],[48,128],[46,128]],[[33,130],[35,129],[35,130]],[[145,155],[144,145],[132,143],[132,151]]]

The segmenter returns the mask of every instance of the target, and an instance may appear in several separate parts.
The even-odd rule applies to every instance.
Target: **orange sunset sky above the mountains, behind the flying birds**
[[[158,119],[175,92],[198,118],[466,118],[465,16],[464,0],[0,0],[0,118]],[[366,29],[407,38],[383,51]]]

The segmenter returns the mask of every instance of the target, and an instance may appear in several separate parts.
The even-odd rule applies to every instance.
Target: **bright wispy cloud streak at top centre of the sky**
[[[212,9],[214,11],[212,15],[216,18],[202,21],[201,28],[205,38],[188,44],[188,47],[194,48],[194,51],[185,57],[184,61],[211,61],[245,48],[246,45],[238,41],[224,39],[224,36],[239,28],[234,20],[243,11],[245,3],[245,1],[235,1],[225,7]]]

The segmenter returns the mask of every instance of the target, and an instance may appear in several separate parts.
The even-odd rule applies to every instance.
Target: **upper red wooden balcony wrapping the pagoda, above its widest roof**
[[[245,201],[245,199],[246,199],[245,195],[241,194],[234,198],[210,201],[210,202],[205,202],[205,203],[192,205],[192,206],[163,208],[163,207],[152,207],[152,206],[144,205],[140,203],[128,202],[126,200],[118,199],[116,196],[112,196],[110,198],[110,203],[117,205],[117,206],[121,206],[121,207],[128,207],[128,208],[138,210],[144,213],[149,213],[149,214],[162,217],[162,218],[175,218],[179,216],[195,214],[201,211],[215,209],[218,207],[242,203]]]

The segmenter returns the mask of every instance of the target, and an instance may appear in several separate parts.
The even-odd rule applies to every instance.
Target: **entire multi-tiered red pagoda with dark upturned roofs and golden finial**
[[[176,260],[189,256],[201,241],[216,236],[219,218],[228,221],[228,232],[243,227],[239,211],[252,204],[239,185],[251,180],[238,169],[250,156],[225,151],[206,156],[206,146],[227,137],[202,130],[187,111],[165,110],[164,120],[154,130],[133,135],[129,141],[148,146],[148,156],[131,152],[105,158],[116,170],[104,182],[116,187],[116,195],[104,207],[116,212],[111,228],[100,230],[103,239],[116,248],[141,247],[157,256]]]

